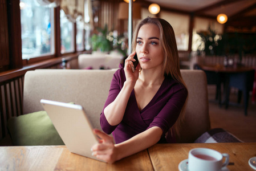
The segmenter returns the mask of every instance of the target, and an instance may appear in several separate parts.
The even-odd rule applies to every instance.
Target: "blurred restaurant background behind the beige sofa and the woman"
[[[256,142],[256,0],[7,0],[0,6],[1,145],[10,145],[8,120],[26,114],[26,72],[118,68],[131,53],[133,28],[148,16],[172,25],[181,70],[205,71],[211,127]]]

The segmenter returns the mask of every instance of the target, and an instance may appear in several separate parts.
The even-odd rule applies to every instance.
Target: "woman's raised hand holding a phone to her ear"
[[[133,59],[133,56],[136,52],[133,52],[131,55],[128,56],[127,59],[125,59],[125,65],[124,65],[124,72],[125,72],[125,78],[128,82],[131,82],[133,84],[136,83],[137,79],[139,78],[139,68],[140,63],[138,63],[136,70],[132,72],[132,66],[135,59]],[[133,66],[134,67],[134,66]]]

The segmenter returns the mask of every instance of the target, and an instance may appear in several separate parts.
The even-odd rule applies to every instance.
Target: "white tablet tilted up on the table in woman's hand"
[[[44,99],[40,103],[70,152],[98,160],[91,152],[98,139],[81,105]]]

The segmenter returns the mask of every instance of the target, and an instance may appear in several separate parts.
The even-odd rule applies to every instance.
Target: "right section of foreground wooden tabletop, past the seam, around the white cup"
[[[256,143],[217,144],[156,144],[148,149],[154,170],[178,170],[178,164],[188,158],[190,149],[210,148],[229,154],[230,171],[253,170],[248,161],[256,156]]]

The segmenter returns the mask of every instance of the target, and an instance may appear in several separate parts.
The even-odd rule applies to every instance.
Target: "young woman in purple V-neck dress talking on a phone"
[[[168,22],[145,18],[137,25],[132,42],[135,52],[113,75],[100,116],[105,133],[95,129],[101,139],[92,146],[92,155],[109,163],[156,143],[166,143],[165,135],[170,128],[172,135],[178,135],[188,96],[180,73],[174,31]],[[135,53],[139,64],[132,72]],[[113,138],[106,133],[112,133]]]

